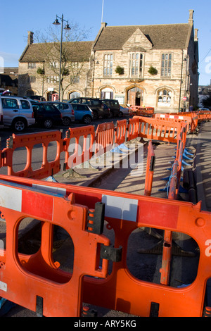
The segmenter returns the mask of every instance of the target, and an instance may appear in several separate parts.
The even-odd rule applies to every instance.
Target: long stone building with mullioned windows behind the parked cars
[[[153,106],[159,112],[197,106],[198,30],[193,28],[193,10],[184,24],[109,27],[102,23],[94,42],[81,43],[83,70],[72,80],[68,77],[63,99],[118,99],[120,104]],[[28,78],[37,75],[33,64],[29,68],[30,61],[37,66],[45,62],[44,57],[35,56],[41,54],[41,46],[33,44],[29,32],[19,63],[19,92],[49,99],[52,92],[58,93],[58,78],[48,80],[47,76],[53,76],[49,70],[46,77],[34,78],[35,82]],[[77,51],[70,61],[82,63]]]

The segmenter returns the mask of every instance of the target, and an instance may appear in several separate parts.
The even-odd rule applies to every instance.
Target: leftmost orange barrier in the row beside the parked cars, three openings
[[[47,153],[51,142],[56,142],[56,158],[48,161]],[[32,149],[42,144],[43,156],[41,168],[32,169]],[[23,170],[13,170],[13,153],[15,149],[25,147],[27,151],[26,165]],[[6,148],[2,151],[2,165],[8,167],[8,175],[43,179],[60,171],[60,153],[63,151],[63,139],[60,131],[38,132],[29,135],[12,135],[6,141]]]

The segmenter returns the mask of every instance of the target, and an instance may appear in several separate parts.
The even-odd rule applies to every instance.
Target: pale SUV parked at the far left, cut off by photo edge
[[[4,126],[22,132],[35,123],[32,104],[20,96],[0,96],[0,120]]]

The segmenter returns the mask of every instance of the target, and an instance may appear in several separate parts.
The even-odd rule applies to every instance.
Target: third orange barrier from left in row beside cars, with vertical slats
[[[99,124],[96,130],[95,137],[95,153],[96,156],[110,151],[113,148],[115,127],[113,122]]]

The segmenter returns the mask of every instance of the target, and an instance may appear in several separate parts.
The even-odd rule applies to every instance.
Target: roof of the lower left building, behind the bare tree
[[[68,52],[70,61],[89,61],[93,42],[63,42],[63,50]],[[53,49],[60,50],[60,43],[29,44],[20,56],[20,62],[43,62],[46,54]]]

